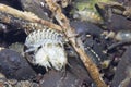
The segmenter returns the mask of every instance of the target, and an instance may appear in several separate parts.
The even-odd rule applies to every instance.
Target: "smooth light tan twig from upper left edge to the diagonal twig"
[[[5,4],[2,4],[2,3],[0,3],[0,11],[9,13],[11,15],[14,15],[16,17],[21,17],[21,18],[29,21],[29,22],[40,23],[40,24],[43,24],[45,26],[49,26],[50,28],[62,30],[59,25],[56,25],[56,24],[53,24],[51,22],[41,20],[38,16],[36,16],[35,14],[33,14],[33,13],[22,12],[22,11],[19,11],[16,9],[10,8],[10,7],[5,5]]]

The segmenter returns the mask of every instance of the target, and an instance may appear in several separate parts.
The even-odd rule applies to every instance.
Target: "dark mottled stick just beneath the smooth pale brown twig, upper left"
[[[24,29],[27,35],[35,29],[44,29],[45,27],[48,27],[39,23],[29,22],[21,17],[16,17],[5,12],[0,12],[0,23],[14,26],[17,29]]]

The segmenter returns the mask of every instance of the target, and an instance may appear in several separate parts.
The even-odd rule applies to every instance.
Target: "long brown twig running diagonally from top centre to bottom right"
[[[75,35],[75,30],[70,27],[69,20],[62,14],[61,8],[55,3],[52,0],[45,0],[49,7],[49,9],[55,14],[56,20],[59,22],[61,27],[63,28],[64,34],[67,37],[71,35]],[[79,53],[81,60],[83,61],[84,65],[86,66],[91,77],[96,83],[97,87],[107,87],[105,82],[102,79],[97,66],[92,62],[92,60],[86,55],[84,48],[82,46],[82,41],[78,39],[75,36],[69,38],[69,41]]]

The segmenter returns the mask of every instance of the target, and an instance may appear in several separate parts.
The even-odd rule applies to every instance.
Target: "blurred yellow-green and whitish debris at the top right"
[[[99,15],[97,11],[97,7],[95,7],[98,2],[109,2],[111,0],[76,0],[73,2],[73,9],[71,14],[73,18],[80,21],[86,21],[95,24],[103,24],[103,17]]]

